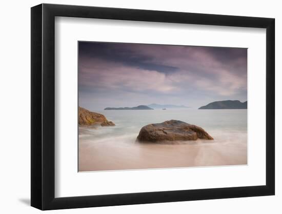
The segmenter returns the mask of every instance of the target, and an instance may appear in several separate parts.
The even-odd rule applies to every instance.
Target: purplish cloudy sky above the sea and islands
[[[247,48],[78,43],[78,102],[94,109],[247,100]]]

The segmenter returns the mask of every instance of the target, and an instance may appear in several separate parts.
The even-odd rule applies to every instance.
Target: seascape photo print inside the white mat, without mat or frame
[[[247,48],[78,42],[78,171],[247,159]]]

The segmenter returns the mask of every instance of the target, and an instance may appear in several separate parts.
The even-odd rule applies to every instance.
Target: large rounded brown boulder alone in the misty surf
[[[201,127],[182,121],[170,120],[144,126],[136,139],[139,142],[213,140]]]

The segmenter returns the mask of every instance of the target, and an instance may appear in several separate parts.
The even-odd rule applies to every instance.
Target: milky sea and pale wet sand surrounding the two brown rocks
[[[247,109],[92,110],[115,126],[79,127],[78,171],[159,169],[247,164]],[[176,144],[135,142],[151,123],[180,120],[214,140]]]

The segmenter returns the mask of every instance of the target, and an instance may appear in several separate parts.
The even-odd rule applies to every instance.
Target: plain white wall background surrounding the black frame
[[[38,213],[30,203],[30,7],[41,1],[5,1],[1,5],[1,78],[0,78],[0,210],[2,213]],[[226,15],[274,17],[276,19],[276,196],[221,199],[193,202],[130,205],[116,207],[55,210],[49,213],[281,213],[282,201],[282,77],[279,41],[282,13],[279,1],[130,1],[130,0],[64,0],[44,3],[102,7],[123,7]],[[278,74],[278,75],[277,75]]]

